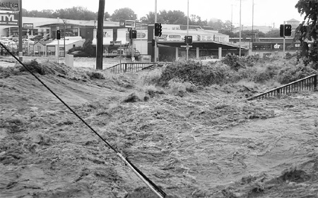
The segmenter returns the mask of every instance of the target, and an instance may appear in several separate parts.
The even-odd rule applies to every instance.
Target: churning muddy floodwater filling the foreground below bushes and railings
[[[42,64],[36,75],[172,197],[318,197],[318,92],[176,94],[141,85],[149,71]],[[0,197],[156,197],[29,73],[2,69],[0,94]]]

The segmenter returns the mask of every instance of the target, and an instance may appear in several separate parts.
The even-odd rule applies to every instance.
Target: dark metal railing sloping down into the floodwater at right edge
[[[254,97],[249,97],[247,100],[266,99],[267,97],[280,97],[281,94],[288,94],[290,92],[302,90],[317,91],[317,76],[318,74],[307,76],[306,78],[302,78],[281,87],[276,87],[275,89],[271,89],[267,92],[257,94]]]

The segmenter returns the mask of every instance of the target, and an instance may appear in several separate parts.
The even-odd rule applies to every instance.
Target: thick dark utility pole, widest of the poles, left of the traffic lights
[[[100,0],[98,7],[98,31],[97,31],[97,42],[96,42],[96,69],[102,70],[102,51],[103,51],[103,29],[104,29],[104,11],[105,11],[105,0]]]

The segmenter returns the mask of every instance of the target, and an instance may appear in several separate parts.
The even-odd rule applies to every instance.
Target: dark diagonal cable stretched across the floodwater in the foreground
[[[73,111],[73,109],[71,109],[71,107],[66,104],[57,94],[55,94],[52,89],[50,89],[49,87],[47,87],[47,85],[45,85],[44,82],[42,82],[42,80],[40,80],[40,78],[37,77],[37,75],[35,75],[27,66],[25,66],[25,64],[22,63],[22,61],[20,61],[19,58],[17,58],[14,54],[12,54],[12,52],[6,48],[6,46],[4,44],[2,44],[0,42],[1,47],[3,47],[4,49],[6,49],[6,51],[8,51],[8,54],[10,54],[11,56],[13,56],[13,58],[16,59],[16,61],[18,61],[18,63],[20,63],[26,70],[28,70],[28,72],[33,75],[43,86],[45,86],[45,88],[47,88],[49,90],[49,92],[51,92],[54,97],[57,97],[57,99],[59,99],[59,101],[61,101],[62,104],[64,104],[64,106],[66,106],[67,109],[69,109],[69,111],[71,111],[77,118],[79,118],[82,123],[84,123],[90,130],[92,130],[95,135],[97,135],[100,140],[102,140],[102,142],[105,142],[105,144],[107,145],[107,147],[109,147],[110,149],[112,149],[117,156],[119,156],[119,158],[124,161],[124,163],[132,170],[134,171],[134,173],[147,185],[147,187],[149,187],[158,197],[160,198],[165,198],[167,194],[165,194],[165,192],[163,192],[163,190],[160,189],[160,187],[158,187],[157,185],[155,185],[149,178],[146,177],[146,175],[144,175],[138,168],[136,168],[136,166],[134,166],[128,159],[125,159],[124,156],[122,156],[122,154],[119,153],[119,151],[117,151],[116,149],[114,149],[114,147],[112,147],[112,145],[110,145],[102,136],[100,136],[98,134],[98,132],[96,132],[90,125],[88,125],[88,123],[86,123],[85,120],[83,120],[83,118],[81,118],[81,116],[79,116],[75,111]]]

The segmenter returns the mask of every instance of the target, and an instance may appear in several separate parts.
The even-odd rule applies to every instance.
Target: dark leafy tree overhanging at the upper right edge
[[[295,40],[299,40],[302,46],[301,55],[305,58],[305,66],[312,62],[313,67],[318,69],[317,57],[317,0],[300,0],[295,5],[300,15],[305,14],[304,21],[295,30]],[[307,20],[307,21],[306,21]],[[311,46],[311,47],[310,47]]]

